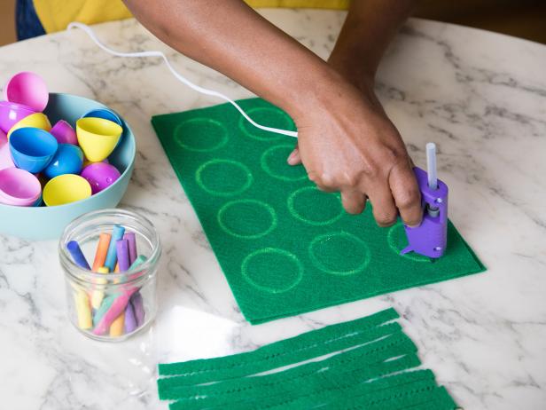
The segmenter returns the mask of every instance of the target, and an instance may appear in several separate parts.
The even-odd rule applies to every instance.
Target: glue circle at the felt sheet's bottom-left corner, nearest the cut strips
[[[241,272],[253,288],[269,294],[285,293],[303,279],[300,259],[280,248],[255,250],[243,260]]]

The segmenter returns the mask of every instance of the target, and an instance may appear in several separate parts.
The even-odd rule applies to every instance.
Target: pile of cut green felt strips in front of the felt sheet
[[[393,321],[396,317],[396,312],[389,309],[255,351],[160,365],[160,398],[172,400],[171,410],[455,409],[455,402],[437,385],[433,372],[417,368],[421,364],[417,346]],[[378,329],[392,325],[398,328],[391,333],[378,333]],[[353,333],[368,337],[350,337]],[[338,340],[347,343],[330,344]],[[324,346],[329,347],[324,350]],[[295,353],[283,354],[287,350]],[[325,356],[324,351],[331,354]],[[312,361],[304,361],[308,359]],[[180,373],[165,375],[166,369],[173,374],[183,372],[186,378]],[[211,370],[214,377],[187,377]]]

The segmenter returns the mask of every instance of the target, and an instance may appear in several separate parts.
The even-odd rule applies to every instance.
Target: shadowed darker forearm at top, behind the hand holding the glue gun
[[[415,0],[353,0],[331,52],[332,67],[351,83],[373,79],[383,53],[415,3]]]

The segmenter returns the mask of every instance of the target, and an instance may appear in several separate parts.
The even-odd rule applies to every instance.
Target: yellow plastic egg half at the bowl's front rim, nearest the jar
[[[43,188],[43,201],[48,207],[82,201],[90,196],[90,183],[74,174],[54,177]]]

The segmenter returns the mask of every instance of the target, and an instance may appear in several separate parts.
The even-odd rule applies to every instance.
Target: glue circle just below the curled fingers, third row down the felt
[[[294,191],[288,197],[287,205],[292,217],[314,226],[331,225],[344,214],[339,197],[324,193],[316,186],[304,186]]]

